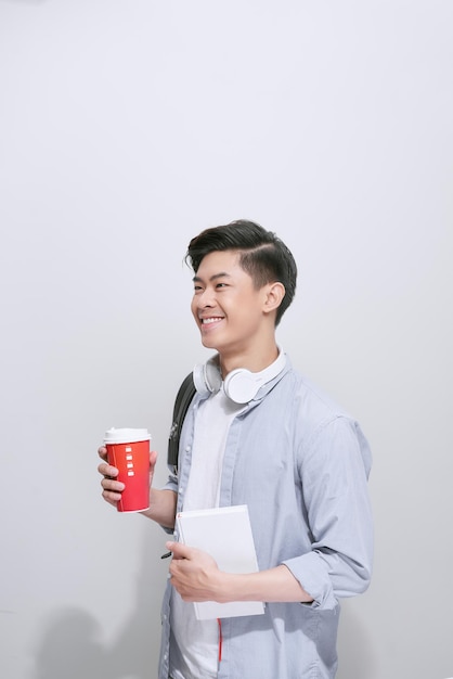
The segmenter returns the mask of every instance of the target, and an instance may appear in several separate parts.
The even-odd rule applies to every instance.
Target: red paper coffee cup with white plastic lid
[[[150,508],[150,441],[147,430],[108,430],[104,444],[108,464],[118,470],[125,484],[118,512],[142,512]]]

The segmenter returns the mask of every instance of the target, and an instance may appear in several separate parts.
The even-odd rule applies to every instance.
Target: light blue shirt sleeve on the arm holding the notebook
[[[312,547],[283,563],[313,607],[334,608],[337,598],[363,592],[371,579],[370,447],[355,422],[336,417],[301,446],[298,466]]]

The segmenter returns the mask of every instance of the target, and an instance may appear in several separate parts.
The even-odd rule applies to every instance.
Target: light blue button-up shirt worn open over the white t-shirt
[[[195,395],[182,430],[178,491],[191,470]],[[267,603],[264,615],[222,619],[219,679],[333,679],[338,599],[371,578],[371,451],[359,424],[286,368],[231,423],[220,505],[247,504],[260,571],[285,564],[313,603]],[[170,593],[163,602],[159,679],[168,679]]]

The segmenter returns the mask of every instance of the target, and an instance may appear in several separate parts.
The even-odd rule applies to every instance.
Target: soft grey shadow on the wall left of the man
[[[40,625],[33,679],[150,679],[157,675],[167,564],[160,565],[154,551],[153,540],[146,539],[132,614],[113,639],[106,640],[102,625],[81,608],[48,614]]]

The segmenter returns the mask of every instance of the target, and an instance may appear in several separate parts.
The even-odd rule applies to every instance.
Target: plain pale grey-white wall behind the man
[[[164,482],[207,357],[182,259],[241,217],[294,252],[279,340],[374,452],[338,677],[452,674],[452,22],[450,0],[0,0],[2,678],[155,679],[166,538],[102,501],[96,448],[146,426]]]

